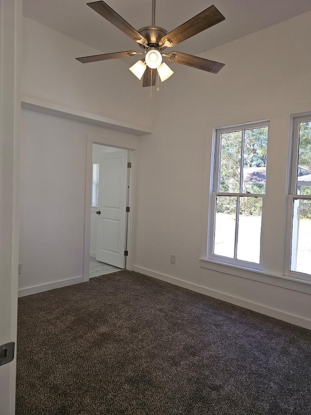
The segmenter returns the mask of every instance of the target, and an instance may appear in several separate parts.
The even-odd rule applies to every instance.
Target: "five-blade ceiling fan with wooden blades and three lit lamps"
[[[118,13],[116,13],[104,1],[94,1],[87,3],[87,5],[99,13],[103,18],[110,21],[110,23],[120,29],[125,35],[133,39],[142,49],[142,52],[125,51],[76,58],[79,62],[96,62],[100,60],[143,54],[144,58],[129,68],[130,71],[138,77],[138,79],[143,78],[143,87],[155,85],[156,72],[158,73],[161,81],[165,81],[173,74],[173,71],[169,68],[169,66],[162,62],[163,57],[168,59],[169,62],[180,63],[182,65],[187,65],[192,68],[201,69],[211,73],[217,73],[225,66],[225,64],[220,62],[214,62],[209,59],[181,52],[174,51],[164,53],[166,48],[175,47],[178,43],[181,43],[182,41],[189,39],[191,36],[203,32],[209,27],[225,20],[225,17],[214,5],[203,10],[203,12],[193,18],[190,18],[190,20],[186,21],[169,33],[167,33],[167,30],[155,26],[155,0],[152,1],[151,26],[142,27],[138,31],[120,15],[118,15]],[[155,71],[155,69],[157,71]]]

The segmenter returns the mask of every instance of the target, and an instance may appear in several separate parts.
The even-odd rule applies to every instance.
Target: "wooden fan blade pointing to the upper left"
[[[125,35],[129,36],[131,39],[137,41],[140,44],[147,43],[147,40],[144,36],[141,36],[140,33],[133,26],[131,26],[126,20],[121,18],[117,12],[115,12],[108,4],[104,1],[93,1],[92,3],[87,3],[87,5],[99,13],[103,18],[110,21],[114,26],[120,29]]]

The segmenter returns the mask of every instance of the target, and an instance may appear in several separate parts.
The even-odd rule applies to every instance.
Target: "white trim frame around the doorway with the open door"
[[[106,145],[108,147],[115,147],[122,150],[129,150],[129,162],[132,163],[132,167],[129,169],[129,192],[128,192],[128,205],[130,206],[130,212],[127,217],[127,235],[126,235],[126,247],[128,256],[126,258],[125,269],[133,270],[133,246],[134,246],[134,215],[135,210],[135,167],[137,148],[124,147],[114,145],[109,142],[108,137],[94,136],[93,134],[87,135],[86,139],[86,183],[85,183],[85,216],[84,216],[84,253],[83,253],[83,281],[89,280],[89,253],[90,253],[90,235],[91,235],[91,197],[92,197],[92,167],[93,167],[93,144]]]

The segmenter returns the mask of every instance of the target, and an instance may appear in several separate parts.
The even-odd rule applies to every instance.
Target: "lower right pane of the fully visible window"
[[[240,198],[237,259],[259,264],[262,198]]]

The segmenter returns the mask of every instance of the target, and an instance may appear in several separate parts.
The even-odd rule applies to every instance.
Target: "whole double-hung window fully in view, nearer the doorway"
[[[268,123],[216,131],[208,256],[260,268]]]

